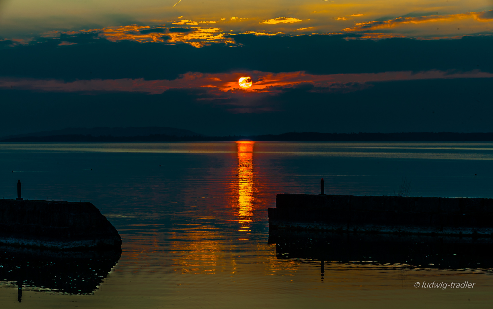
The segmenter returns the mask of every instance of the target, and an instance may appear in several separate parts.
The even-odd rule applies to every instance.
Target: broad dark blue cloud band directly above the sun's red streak
[[[223,43],[189,44],[111,42],[97,34],[8,47],[2,41],[0,72],[19,78],[176,79],[186,72],[293,72],[309,74],[378,73],[440,70],[493,72],[493,36],[461,39],[346,40],[341,35],[233,35],[238,47]],[[66,43],[61,45],[62,41]],[[76,44],[69,44],[76,43]]]

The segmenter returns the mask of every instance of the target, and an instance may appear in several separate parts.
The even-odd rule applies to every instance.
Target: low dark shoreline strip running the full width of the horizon
[[[281,142],[487,142],[493,141],[493,132],[489,133],[457,133],[457,132],[401,132],[401,133],[318,133],[318,132],[288,132],[278,135],[253,136],[176,136],[151,134],[142,136],[111,136],[111,135],[49,135],[24,136],[7,138],[0,142],[226,142],[238,140],[252,141],[281,141]]]

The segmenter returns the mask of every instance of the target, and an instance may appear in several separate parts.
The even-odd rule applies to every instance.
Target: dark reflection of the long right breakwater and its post
[[[491,238],[317,233],[269,230],[278,258],[441,269],[493,267]]]

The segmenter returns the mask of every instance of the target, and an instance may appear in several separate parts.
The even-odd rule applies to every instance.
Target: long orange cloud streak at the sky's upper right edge
[[[474,19],[480,22],[493,21],[493,10],[486,12],[469,12],[453,15],[431,15],[421,17],[399,17],[387,21],[372,21],[366,23],[356,23],[353,28],[346,28],[343,31],[372,31],[384,28],[393,28],[402,24],[422,24],[441,21],[453,21],[458,19]]]

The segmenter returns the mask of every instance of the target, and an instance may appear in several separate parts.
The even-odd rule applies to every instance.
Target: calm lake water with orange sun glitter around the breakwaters
[[[349,242],[353,235],[302,235],[307,238],[294,238],[299,242],[293,251],[285,243],[293,239],[289,235],[269,240],[267,218],[276,193],[319,193],[322,177],[326,193],[333,194],[393,195],[406,178],[411,195],[493,198],[493,143],[9,143],[0,144],[0,176],[0,198],[14,198],[21,179],[24,198],[91,202],[123,239],[118,263],[107,274],[101,267],[98,276],[90,266],[99,267],[100,260],[84,264],[80,256],[44,255],[46,263],[60,263],[53,267],[70,278],[73,286],[65,291],[72,294],[32,280],[22,287],[19,303],[18,282],[0,272],[1,308],[493,304],[492,259],[481,250],[462,252],[448,240],[437,251],[436,239],[431,245],[424,238],[358,240],[378,243],[365,247]],[[323,276],[322,245],[315,245],[322,239],[328,243]],[[408,255],[396,242],[404,242]],[[491,239],[460,242],[473,243],[471,250],[491,246]],[[8,250],[0,247],[3,256],[20,254]],[[84,266],[64,266],[67,259]],[[31,266],[9,261],[12,269],[35,276],[32,260]],[[86,279],[96,283],[75,291]],[[475,285],[414,287],[423,281]]]

